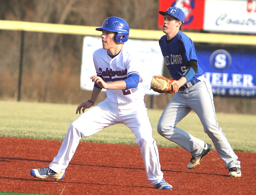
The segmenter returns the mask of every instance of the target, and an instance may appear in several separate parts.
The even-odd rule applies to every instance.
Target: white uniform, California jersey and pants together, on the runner
[[[129,74],[138,74],[138,61],[131,60],[127,47],[113,59],[107,50],[98,49],[93,54],[98,75],[105,82],[124,80]],[[133,64],[136,63],[136,64]],[[138,87],[128,90],[107,90],[107,98],[81,114],[68,128],[58,155],[49,168],[55,172],[64,172],[72,159],[79,140],[100,130],[119,123],[126,125],[136,137],[136,144],[141,150],[147,178],[151,184],[158,184],[163,179],[159,162],[158,148],[152,135],[152,126],[148,118],[148,109],[144,103],[142,78]],[[141,86],[140,86],[141,84]]]

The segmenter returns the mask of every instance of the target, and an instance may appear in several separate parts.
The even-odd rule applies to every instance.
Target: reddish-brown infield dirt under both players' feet
[[[0,191],[38,194],[255,194],[256,153],[236,152],[242,177],[228,177],[216,150],[188,170],[190,154],[159,147],[165,180],[173,190],[153,188],[136,145],[81,142],[64,179],[38,179],[29,171],[47,167],[61,141],[0,137]]]

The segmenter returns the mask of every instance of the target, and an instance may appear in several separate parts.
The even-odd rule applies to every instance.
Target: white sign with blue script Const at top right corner
[[[255,0],[205,0],[204,30],[256,33]]]

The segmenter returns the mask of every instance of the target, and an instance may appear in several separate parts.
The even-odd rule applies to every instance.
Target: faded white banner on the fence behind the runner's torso
[[[150,83],[154,75],[163,75],[164,58],[156,40],[129,39],[124,43],[133,52],[137,59],[140,75],[143,78],[143,88],[147,95],[159,95],[150,90]],[[82,66],[80,87],[83,90],[92,90],[94,83],[90,77],[96,75],[92,54],[95,50],[102,48],[100,37],[85,36],[82,51]],[[104,91],[104,89],[102,89]]]

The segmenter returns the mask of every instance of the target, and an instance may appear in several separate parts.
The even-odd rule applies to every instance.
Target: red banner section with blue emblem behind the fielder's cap
[[[203,29],[205,0],[159,0],[159,11],[166,11],[169,7],[180,8],[185,14],[182,29]],[[164,16],[158,14],[158,27],[162,28]]]

